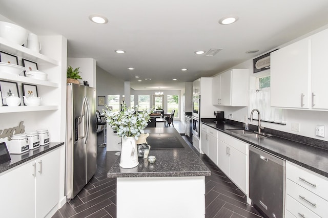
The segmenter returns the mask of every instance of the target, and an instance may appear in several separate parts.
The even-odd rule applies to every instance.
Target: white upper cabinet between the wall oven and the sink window
[[[247,69],[232,69],[213,78],[212,104],[222,106],[247,106]]]

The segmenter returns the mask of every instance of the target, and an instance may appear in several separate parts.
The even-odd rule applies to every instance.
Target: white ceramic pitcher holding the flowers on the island
[[[133,168],[138,166],[138,164],[138,150],[135,138],[122,138],[122,149],[119,166],[122,168]]]

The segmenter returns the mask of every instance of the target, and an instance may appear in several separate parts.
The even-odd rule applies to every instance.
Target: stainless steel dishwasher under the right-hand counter
[[[284,217],[285,161],[249,146],[250,199],[268,217]]]

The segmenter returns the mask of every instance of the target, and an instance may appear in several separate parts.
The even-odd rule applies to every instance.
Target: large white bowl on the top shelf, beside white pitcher
[[[23,27],[5,21],[0,21],[0,37],[21,46],[26,42],[27,36],[28,32]]]

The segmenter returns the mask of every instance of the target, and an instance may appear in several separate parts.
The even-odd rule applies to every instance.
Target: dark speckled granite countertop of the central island
[[[149,155],[156,156],[156,162],[149,163],[148,159],[139,158],[139,165],[131,169],[119,167],[120,159],[117,158],[107,173],[109,178],[211,176],[211,171],[195,154],[195,151],[183,140],[175,128],[147,128],[147,132],[150,134],[150,137],[156,137],[158,134],[170,135],[176,138],[183,145],[183,148],[150,148]],[[150,143],[149,145],[152,146]]]

